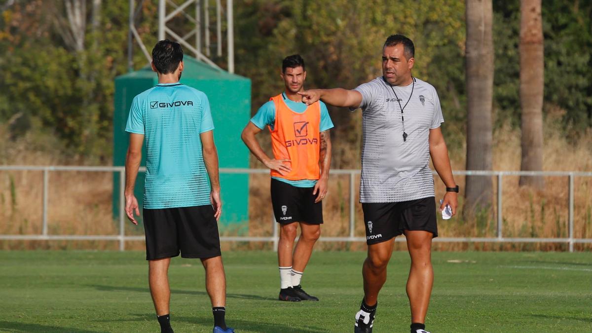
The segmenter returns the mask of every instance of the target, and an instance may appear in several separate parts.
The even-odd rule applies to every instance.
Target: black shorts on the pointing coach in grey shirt
[[[438,236],[434,197],[397,203],[362,203],[362,210],[368,245],[403,235],[404,230],[424,230]]]

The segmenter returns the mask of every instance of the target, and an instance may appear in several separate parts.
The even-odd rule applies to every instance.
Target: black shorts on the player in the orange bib
[[[314,187],[295,187],[287,182],[271,179],[271,204],[275,220],[282,224],[304,222],[323,223],[322,201],[314,203]],[[318,193],[317,193],[318,195]]]

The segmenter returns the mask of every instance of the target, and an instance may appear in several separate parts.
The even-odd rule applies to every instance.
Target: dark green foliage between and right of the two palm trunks
[[[494,1],[496,125],[520,124],[520,2]],[[592,126],[592,2],[543,1],[544,112],[564,110],[568,135]],[[571,129],[568,130],[568,129]]]

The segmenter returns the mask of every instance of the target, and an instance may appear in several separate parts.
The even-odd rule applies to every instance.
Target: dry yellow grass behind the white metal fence
[[[544,169],[546,171],[592,171],[592,132],[583,133],[577,145],[559,135],[550,116],[545,128]],[[2,133],[0,133],[1,135]],[[494,133],[494,169],[520,169],[520,133],[504,127]],[[6,142],[6,141],[5,141]],[[31,152],[23,142],[0,145],[0,160],[7,165],[58,165],[68,161],[55,152]],[[464,152],[451,152],[453,169],[464,168]],[[260,167],[254,163],[253,167]],[[464,188],[464,177],[456,177]],[[543,191],[520,188],[519,177],[504,177],[503,228],[507,237],[567,237],[568,235],[568,179],[546,177]],[[495,181],[492,178],[492,181]],[[272,235],[272,210],[269,196],[269,175],[250,176],[249,235]],[[0,171],[0,234],[41,233],[43,175],[40,171]],[[494,191],[496,190],[494,182]],[[329,196],[324,200],[323,236],[349,235],[349,176],[332,175]],[[358,203],[359,177],[355,181],[355,235],[363,236],[362,209]],[[436,177],[436,196],[443,196],[443,184]],[[461,191],[462,194],[462,191]],[[575,178],[574,235],[592,238],[592,177]],[[67,235],[115,235],[118,222],[111,213],[112,175],[108,172],[50,172],[49,233]],[[495,236],[497,194],[494,207],[478,214],[474,220],[459,217],[449,221],[439,220],[440,236]],[[462,205],[462,196],[461,196]],[[462,207],[462,206],[461,206]],[[127,223],[127,222],[126,222]],[[141,235],[143,230],[126,224],[126,233]],[[233,230],[221,230],[223,235]],[[0,249],[21,248],[85,248],[116,249],[114,241],[0,241]],[[224,249],[271,249],[268,242],[235,242],[223,245]],[[397,244],[404,248],[403,243]],[[436,249],[565,249],[561,244],[441,244]],[[126,248],[141,249],[142,242],[128,242]],[[325,242],[318,249],[364,249],[362,243],[345,244]],[[577,245],[578,249],[590,249]]]

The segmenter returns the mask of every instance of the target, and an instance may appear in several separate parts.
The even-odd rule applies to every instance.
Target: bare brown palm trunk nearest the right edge
[[[520,1],[520,107],[522,171],[543,169],[543,24],[541,0]],[[542,189],[543,177],[520,177],[520,185]]]

